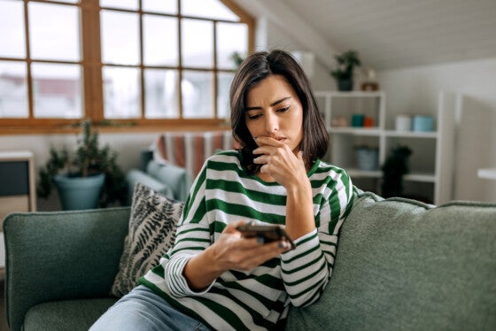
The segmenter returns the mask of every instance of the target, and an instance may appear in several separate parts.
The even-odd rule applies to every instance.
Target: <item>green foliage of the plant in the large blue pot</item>
[[[61,149],[50,147],[50,157],[39,170],[36,191],[38,196],[48,198],[55,187],[54,178],[58,174],[68,177],[88,177],[105,173],[105,184],[100,194],[99,205],[106,207],[114,202],[124,204],[127,197],[125,175],[117,163],[117,152],[109,145],[100,147],[98,133],[88,119],[79,123],[82,135],[72,152],[66,146]]]

